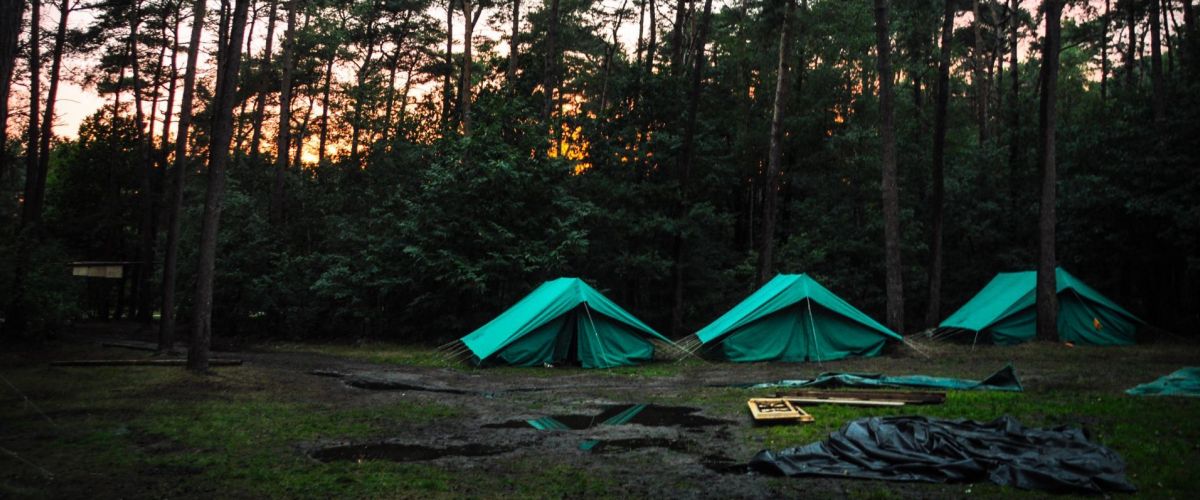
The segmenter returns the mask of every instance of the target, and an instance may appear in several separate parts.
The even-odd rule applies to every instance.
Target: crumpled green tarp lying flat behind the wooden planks
[[[1004,366],[983,380],[952,379],[929,375],[883,375],[878,373],[822,373],[815,379],[780,380],[756,384],[750,388],[773,387],[929,387],[955,391],[1020,392],[1021,381],[1012,365]]]

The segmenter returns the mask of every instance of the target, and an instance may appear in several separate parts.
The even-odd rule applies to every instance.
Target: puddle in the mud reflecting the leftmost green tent
[[[641,406],[641,409],[638,409]],[[540,430],[583,430],[600,424],[636,423],[647,427],[683,427],[698,428],[709,426],[730,424],[727,420],[709,418],[696,415],[698,408],[689,406],[660,406],[656,404],[618,404],[605,406],[605,410],[596,415],[552,415],[534,420],[510,420],[499,423],[487,423],[488,429],[526,429],[535,428]],[[629,416],[634,412],[632,416]]]

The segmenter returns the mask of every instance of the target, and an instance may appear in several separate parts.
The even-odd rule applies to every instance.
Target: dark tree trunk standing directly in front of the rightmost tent
[[[1042,155],[1042,195],[1038,217],[1037,337],[1058,339],[1058,296],[1055,283],[1055,225],[1057,168],[1055,127],[1057,121],[1058,50],[1061,43],[1062,0],[1045,0],[1046,35],[1042,43],[1042,96],[1038,113],[1039,152]]]

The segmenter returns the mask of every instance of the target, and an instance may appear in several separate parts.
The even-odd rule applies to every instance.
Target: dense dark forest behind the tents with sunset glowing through
[[[578,276],[679,337],[775,272],[916,332],[1034,267],[1046,151],[1054,260],[1200,321],[1190,0],[0,2],[6,335],[445,341]]]

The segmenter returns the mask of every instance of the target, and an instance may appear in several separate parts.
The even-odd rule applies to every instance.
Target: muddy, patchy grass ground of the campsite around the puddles
[[[270,344],[239,354],[247,360],[241,367],[193,375],[178,368],[49,367],[52,359],[149,356],[91,343],[55,343],[0,355],[5,379],[0,381],[0,498],[642,498],[812,492],[940,498],[1024,493],[990,484],[728,476],[696,462],[714,450],[745,460],[761,448],[820,440],[856,417],[912,414],[976,420],[1013,415],[1031,427],[1084,427],[1126,459],[1140,494],[1192,498],[1200,489],[1194,465],[1200,463],[1200,426],[1195,423],[1200,399],[1135,398],[1121,392],[1178,367],[1200,365],[1195,345],[937,349],[930,359],[900,353],[823,366],[688,361],[588,372],[446,369],[430,349],[388,344]],[[1026,392],[952,392],[946,404],[930,406],[812,406],[809,411],[817,421],[808,426],[752,427],[744,415],[745,398],[763,391],[712,386],[811,376],[821,371],[980,378],[1007,361],[1018,367]],[[473,388],[542,384],[553,391],[492,398],[350,390],[336,379],[305,374],[314,367],[377,371]],[[688,405],[733,423],[694,439],[683,452],[644,450],[601,457],[578,452],[574,434],[479,429],[482,422],[582,411],[598,402]],[[322,445],[378,439],[425,444],[500,439],[522,446],[499,457],[413,463],[320,463],[307,456]]]

